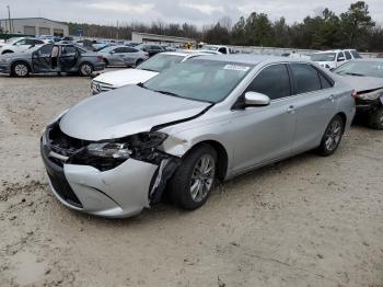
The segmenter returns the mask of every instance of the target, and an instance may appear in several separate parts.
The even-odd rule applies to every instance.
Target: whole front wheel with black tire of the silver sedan
[[[186,210],[201,207],[213,187],[216,171],[217,151],[211,146],[201,145],[193,150],[169,182],[172,202]]]

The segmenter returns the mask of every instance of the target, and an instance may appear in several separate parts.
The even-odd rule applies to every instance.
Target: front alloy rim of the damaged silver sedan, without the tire
[[[202,156],[192,173],[190,195],[196,203],[202,202],[209,194],[214,181],[216,161],[210,154]]]

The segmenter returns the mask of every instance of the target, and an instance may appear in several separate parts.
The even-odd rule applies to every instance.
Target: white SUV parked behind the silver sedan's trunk
[[[360,59],[361,56],[355,49],[335,49],[318,51],[311,55],[311,60],[317,62],[323,68],[335,69],[349,60]]]

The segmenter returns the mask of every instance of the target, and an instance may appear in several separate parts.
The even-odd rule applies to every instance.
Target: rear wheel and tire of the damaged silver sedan
[[[341,137],[345,133],[345,120],[340,115],[336,115],[326,127],[322,137],[317,153],[323,157],[332,156],[339,147]]]

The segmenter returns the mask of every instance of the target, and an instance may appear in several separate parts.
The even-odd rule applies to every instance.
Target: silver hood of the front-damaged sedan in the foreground
[[[80,102],[61,117],[60,128],[83,140],[120,138],[196,116],[208,106],[210,103],[127,85]]]

